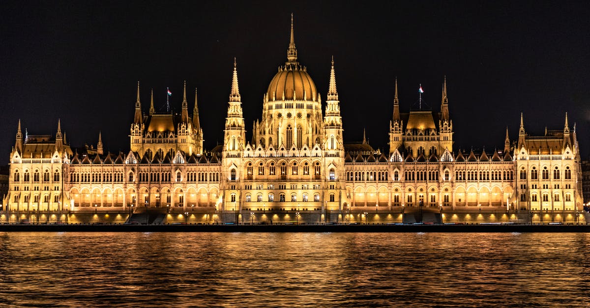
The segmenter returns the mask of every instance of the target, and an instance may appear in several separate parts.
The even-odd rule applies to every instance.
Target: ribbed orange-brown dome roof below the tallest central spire
[[[284,96],[284,97],[283,97]],[[276,100],[316,101],[317,90],[312,77],[299,64],[286,64],[279,68],[268,86],[267,98]]]

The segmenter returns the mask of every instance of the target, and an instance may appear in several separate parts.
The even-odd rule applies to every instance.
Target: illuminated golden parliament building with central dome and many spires
[[[59,121],[54,135],[23,135],[19,121],[0,221],[124,222],[149,210],[163,213],[144,214],[149,223],[584,219],[567,114],[542,136],[528,135],[521,115],[517,140],[506,131],[501,150],[463,152],[453,148],[460,119],[449,112],[446,80],[440,112],[402,112],[395,82],[389,152],[366,139],[346,143],[334,61],[323,101],[297,61],[292,21],[287,61],[263,95],[251,139],[235,60],[229,88],[223,144],[210,150],[186,83],[180,114],[156,112],[153,93],[144,113],[137,84],[128,152],[105,152],[100,135],[96,147],[71,148]]]

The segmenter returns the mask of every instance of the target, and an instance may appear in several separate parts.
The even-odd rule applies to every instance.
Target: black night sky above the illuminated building
[[[286,61],[294,13],[299,61],[326,98],[330,57],[347,142],[387,149],[394,80],[402,112],[418,100],[440,110],[447,77],[455,151],[503,148],[506,126],[529,134],[577,123],[590,153],[588,1],[356,2],[2,2],[0,7],[0,164],[8,163],[18,119],[28,133],[73,146],[129,149],[136,83],[143,109],[189,110],[198,88],[205,148],[223,137],[234,57],[247,137],[263,94]]]

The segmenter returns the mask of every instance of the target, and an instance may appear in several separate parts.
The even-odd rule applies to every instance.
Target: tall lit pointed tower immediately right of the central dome
[[[342,139],[342,117],[340,116],[340,101],[336,91],[336,73],[334,71],[334,57],[330,68],[330,82],[326,99],[326,116],[324,116],[324,151],[327,156],[344,158],[344,144]],[[343,167],[343,166],[342,166]]]

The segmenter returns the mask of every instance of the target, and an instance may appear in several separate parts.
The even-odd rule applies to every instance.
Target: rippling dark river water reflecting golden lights
[[[0,234],[0,306],[588,307],[590,234]]]

